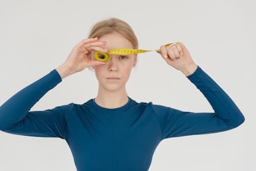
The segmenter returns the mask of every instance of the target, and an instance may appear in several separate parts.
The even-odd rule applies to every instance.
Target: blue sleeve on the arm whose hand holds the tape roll
[[[65,139],[67,122],[74,103],[45,111],[30,111],[61,77],[54,69],[17,92],[0,106],[0,130],[10,134]]]

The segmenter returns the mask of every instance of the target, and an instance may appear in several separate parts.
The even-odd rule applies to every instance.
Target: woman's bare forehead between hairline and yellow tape
[[[131,42],[117,32],[104,34],[98,38],[98,41],[106,41],[106,45],[101,47],[108,50],[119,48],[133,49]]]

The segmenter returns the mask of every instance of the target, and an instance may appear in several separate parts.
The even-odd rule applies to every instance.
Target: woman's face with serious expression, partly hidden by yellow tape
[[[102,46],[102,48],[108,50],[119,48],[133,49],[131,42],[117,32],[105,34],[99,37],[98,41],[106,41],[105,46]],[[94,52],[92,51],[92,56],[94,56]],[[130,77],[132,68],[136,65],[137,54],[110,54],[110,56],[111,59],[106,62],[105,66],[93,66],[99,82],[99,88],[109,91],[125,89],[125,83]],[[96,59],[92,57],[92,60]],[[118,77],[119,79],[108,79],[109,77]]]

